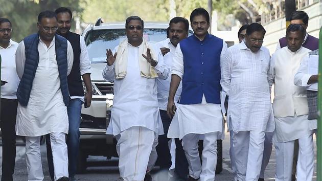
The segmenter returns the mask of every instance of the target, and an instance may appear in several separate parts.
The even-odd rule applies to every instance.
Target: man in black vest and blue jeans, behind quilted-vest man
[[[90,61],[84,38],[76,33],[70,32],[72,24],[72,11],[65,7],[55,10],[57,15],[57,34],[63,36],[71,42],[74,52],[73,67],[70,75],[68,75],[68,90],[71,100],[67,106],[68,114],[68,134],[67,134],[67,150],[68,150],[68,174],[71,181],[75,181],[77,156],[79,150],[79,126],[81,121],[81,108],[85,103],[85,108],[90,106],[92,88],[90,82]],[[86,95],[84,97],[84,89],[81,77],[86,86]],[[53,155],[51,154],[51,145],[49,134],[46,135],[47,159],[49,171],[52,179],[54,178]]]

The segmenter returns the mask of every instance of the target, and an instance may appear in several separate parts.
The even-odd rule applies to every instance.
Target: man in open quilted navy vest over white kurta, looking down
[[[37,27],[38,33],[21,41],[16,52],[20,78],[16,134],[26,137],[28,180],[43,180],[40,136],[50,134],[55,180],[67,181],[67,75],[73,66],[73,48],[56,34],[55,12],[39,13]]]

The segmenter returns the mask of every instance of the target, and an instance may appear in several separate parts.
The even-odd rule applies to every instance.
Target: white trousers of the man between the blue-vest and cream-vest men
[[[265,131],[239,131],[233,135],[239,181],[258,181],[263,160]]]

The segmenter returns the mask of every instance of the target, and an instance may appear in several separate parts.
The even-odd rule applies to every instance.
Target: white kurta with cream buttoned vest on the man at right
[[[300,65],[300,60],[305,57],[308,52],[309,50],[303,47],[296,52],[291,52],[288,47],[284,47],[276,51],[271,58],[270,79],[275,80],[275,97],[273,103],[274,108],[276,107],[274,109],[275,130],[273,135],[275,142],[289,142],[312,134],[312,131],[309,128],[309,120],[307,119],[308,105],[303,105],[303,102],[296,99],[304,98],[305,93],[303,88],[298,88],[294,85],[294,75]],[[284,60],[279,57],[290,57],[290,59]],[[289,67],[289,70],[282,69],[284,66]],[[286,90],[287,88],[285,87],[287,87],[288,90]],[[284,95],[281,96],[282,93]],[[284,100],[284,98],[287,98],[290,94],[292,97]],[[285,106],[287,106],[287,108],[283,109]],[[307,113],[305,114],[303,112]]]

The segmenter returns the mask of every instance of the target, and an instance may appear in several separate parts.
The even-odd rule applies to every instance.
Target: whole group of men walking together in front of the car
[[[295,180],[295,173],[297,180],[312,180],[318,39],[306,32],[308,19],[303,11],[292,14],[271,57],[262,46],[266,31],[257,23],[242,26],[240,43],[227,48],[208,33],[210,17],[203,8],[191,13],[193,35],[188,37],[186,18],[174,17],[168,38],[156,44],[143,38],[140,17],[128,17],[126,38],[106,50],[102,73],[114,82],[107,134],[118,141],[123,180],[152,180],[157,160],[160,169],[169,170],[172,138],[175,175],[168,180],[215,180],[223,114],[235,181],[264,180],[272,143],[275,180]],[[41,135],[46,135],[52,180],[76,180],[81,105],[90,106],[92,89],[85,42],[70,32],[71,22],[68,8],[43,11],[38,32],[17,43],[11,40],[10,20],[0,18],[2,80],[7,81],[1,87],[2,180],[13,180],[15,135],[26,137],[29,181],[44,178]]]

